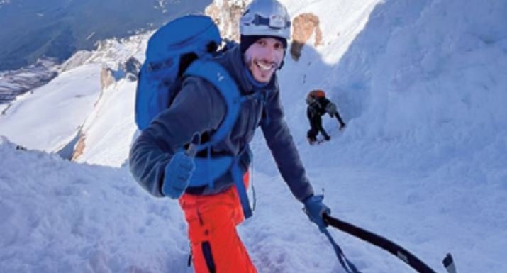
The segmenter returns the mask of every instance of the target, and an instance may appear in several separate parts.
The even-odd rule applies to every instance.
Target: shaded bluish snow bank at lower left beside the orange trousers
[[[5,138],[0,154],[0,272],[184,272],[182,213],[127,169],[16,150]]]

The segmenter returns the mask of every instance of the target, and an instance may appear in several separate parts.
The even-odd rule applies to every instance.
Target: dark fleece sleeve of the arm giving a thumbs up
[[[225,116],[218,91],[203,79],[185,79],[171,106],[156,116],[130,148],[129,166],[135,180],[153,196],[162,194],[165,166],[194,133],[215,130]]]

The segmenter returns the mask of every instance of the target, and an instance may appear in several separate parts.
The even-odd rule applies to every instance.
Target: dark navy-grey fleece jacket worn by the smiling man
[[[216,62],[228,70],[242,94],[252,94],[255,91],[245,74],[247,69],[238,46],[216,58]],[[313,195],[313,189],[284,120],[276,74],[266,87],[262,87],[261,92],[264,100],[250,99],[243,102],[233,129],[224,140],[213,146],[212,154],[238,155],[250,143],[255,130],[260,126],[279,172],[296,199],[303,201]],[[171,106],[162,111],[133,143],[129,155],[133,177],[150,194],[163,196],[161,187],[165,166],[174,152],[189,143],[196,132],[211,135],[221,124],[226,110],[225,101],[212,84],[198,77],[186,78]],[[246,172],[250,158],[241,161],[243,171]],[[213,189],[204,186],[203,189],[189,188],[186,192],[216,194],[233,184],[231,175],[225,174],[215,182]]]

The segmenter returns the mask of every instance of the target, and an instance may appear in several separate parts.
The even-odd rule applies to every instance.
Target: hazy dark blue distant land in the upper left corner
[[[40,57],[66,60],[99,40],[151,30],[211,0],[11,0],[0,2],[0,71]],[[7,27],[8,26],[8,27]]]

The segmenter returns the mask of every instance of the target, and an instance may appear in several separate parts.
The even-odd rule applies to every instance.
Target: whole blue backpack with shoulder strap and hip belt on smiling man
[[[213,20],[198,15],[170,21],[150,37],[135,92],[135,123],[140,130],[147,128],[153,118],[169,108],[182,87],[184,77],[194,76],[213,84],[227,104],[223,122],[210,140],[197,147],[197,151],[210,150],[211,146],[228,135],[238,118],[241,103],[248,98],[241,96],[238,85],[227,70],[211,60],[221,54],[217,51],[221,43],[220,32]],[[238,157],[196,157],[195,160],[196,171],[190,186],[209,184],[213,187],[213,181],[230,170],[238,187],[245,218],[250,217],[252,212],[238,167]]]

